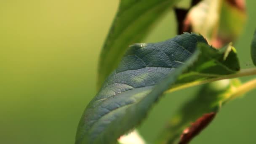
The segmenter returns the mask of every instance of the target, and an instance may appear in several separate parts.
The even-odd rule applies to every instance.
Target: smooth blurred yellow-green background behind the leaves
[[[96,94],[99,53],[118,2],[0,1],[0,144],[74,144],[80,116]],[[253,67],[255,5],[247,1],[248,23],[235,43],[243,68]],[[171,38],[175,29],[170,11],[144,42]],[[144,138],[155,139],[198,88],[164,96],[139,127]],[[255,95],[254,90],[225,105],[192,144],[256,143]]]

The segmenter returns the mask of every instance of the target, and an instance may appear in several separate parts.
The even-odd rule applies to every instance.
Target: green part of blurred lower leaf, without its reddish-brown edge
[[[160,134],[157,143],[173,144],[179,139],[182,131],[195,122],[198,117],[207,113],[218,112],[239,86],[240,81],[238,79],[221,80],[203,85],[200,91],[174,114]]]

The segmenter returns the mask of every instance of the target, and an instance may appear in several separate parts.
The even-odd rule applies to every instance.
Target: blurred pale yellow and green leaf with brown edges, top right
[[[244,0],[240,0],[244,2]],[[246,21],[245,6],[235,0],[203,0],[189,11],[187,23],[217,48],[235,41]]]

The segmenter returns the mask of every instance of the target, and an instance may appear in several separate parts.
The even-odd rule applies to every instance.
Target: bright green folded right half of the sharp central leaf
[[[200,83],[212,78],[229,75],[240,70],[235,48],[227,45],[221,49],[215,49],[205,43],[198,43],[197,47],[203,53],[193,67],[179,76],[176,85],[173,87],[186,87],[191,83]],[[172,90],[171,90],[172,91]]]

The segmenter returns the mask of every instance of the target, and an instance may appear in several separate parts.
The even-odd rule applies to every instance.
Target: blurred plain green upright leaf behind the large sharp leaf
[[[152,26],[179,0],[120,0],[117,15],[101,51],[98,88],[117,67],[128,45],[141,42]]]

